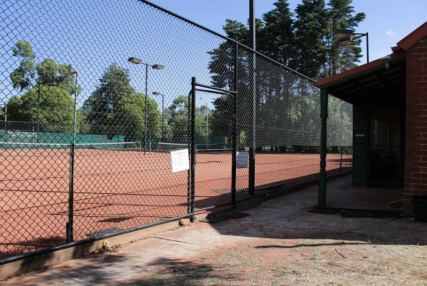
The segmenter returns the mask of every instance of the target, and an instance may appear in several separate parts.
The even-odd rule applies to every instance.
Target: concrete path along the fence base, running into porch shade
[[[338,179],[339,180],[339,179]],[[337,180],[337,182],[339,182]],[[218,223],[196,222],[128,243],[116,253],[90,254],[1,281],[3,286],[83,286],[131,284],[174,262],[227,244],[251,243],[259,238],[340,238],[367,234],[417,238],[427,243],[427,223],[413,219],[343,218],[308,213],[316,205],[317,186],[311,186],[257,207],[249,216]]]

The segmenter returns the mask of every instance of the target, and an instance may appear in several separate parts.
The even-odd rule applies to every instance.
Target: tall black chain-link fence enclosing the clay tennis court
[[[6,0],[0,23],[0,263],[318,177],[319,91],[238,43],[135,0]],[[330,174],[351,127],[331,99]]]

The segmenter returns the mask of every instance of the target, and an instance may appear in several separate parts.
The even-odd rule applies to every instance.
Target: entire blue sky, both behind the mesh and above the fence
[[[153,0],[215,32],[223,33],[225,19],[246,23],[248,0]],[[256,16],[274,8],[274,0],[257,0]],[[289,0],[292,10],[300,0]],[[426,20],[427,0],[354,0],[366,19],[357,32],[369,32],[370,60],[391,53],[390,47]],[[116,63],[129,69],[131,85],[145,92],[145,68],[128,63],[138,57],[149,64],[148,95],[165,94],[165,107],[178,95],[187,95],[192,76],[211,83],[209,51],[223,39],[135,0],[4,0],[0,1],[0,107],[20,92],[10,73],[19,65],[11,56],[16,41],[32,43],[35,62],[53,58],[79,71],[78,107],[99,85],[106,68]],[[362,38],[362,53],[365,42]],[[361,64],[366,59],[361,59]],[[155,97],[161,103],[160,96]],[[212,102],[206,98],[204,103]]]

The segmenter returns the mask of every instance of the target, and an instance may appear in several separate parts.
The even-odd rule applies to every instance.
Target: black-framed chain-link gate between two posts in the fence
[[[196,78],[191,85],[191,212],[230,203],[235,207],[237,92],[197,83]]]

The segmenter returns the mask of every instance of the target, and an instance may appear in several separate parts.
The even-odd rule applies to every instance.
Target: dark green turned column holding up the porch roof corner
[[[320,172],[317,206],[326,206],[326,120],[328,119],[328,90],[320,90]]]

